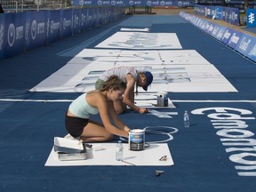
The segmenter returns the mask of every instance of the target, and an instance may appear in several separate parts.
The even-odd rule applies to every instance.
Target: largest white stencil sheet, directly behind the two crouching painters
[[[85,49],[31,92],[87,92],[108,68],[134,66],[154,76],[148,92],[237,92],[195,50],[122,51]],[[139,67],[140,66],[140,67]],[[139,92],[144,92],[139,88]]]

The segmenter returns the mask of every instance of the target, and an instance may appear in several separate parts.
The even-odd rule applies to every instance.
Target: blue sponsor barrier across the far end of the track
[[[175,7],[188,7],[194,6],[192,1],[178,1],[178,0],[73,0],[73,6],[175,6]]]

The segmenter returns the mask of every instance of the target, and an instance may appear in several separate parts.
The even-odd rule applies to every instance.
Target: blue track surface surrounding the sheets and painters
[[[121,116],[131,127],[178,128],[179,132],[168,142],[174,161],[172,166],[45,167],[53,137],[67,134],[64,116],[69,103],[33,100],[73,100],[78,93],[28,90],[64,66],[76,53],[94,47],[120,28],[151,28],[151,32],[176,33],[183,49],[199,52],[238,92],[169,92],[177,108],[158,111],[178,112],[178,115],[159,118],[128,112]],[[255,63],[178,15],[126,16],[79,36],[1,60],[0,82],[0,191],[255,191]],[[200,108],[208,109],[200,115]],[[217,111],[218,108],[226,108],[226,111]],[[191,127],[186,129],[182,119],[185,109],[191,117]],[[233,130],[229,129],[232,124],[224,127],[227,118],[220,122],[220,117],[234,117],[236,125],[241,127],[234,124]],[[164,173],[156,177],[156,170]],[[254,172],[255,175],[242,176],[239,172]]]

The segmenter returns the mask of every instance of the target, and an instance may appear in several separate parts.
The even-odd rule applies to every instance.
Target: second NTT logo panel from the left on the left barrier
[[[46,44],[48,33],[48,11],[26,12],[26,50]]]

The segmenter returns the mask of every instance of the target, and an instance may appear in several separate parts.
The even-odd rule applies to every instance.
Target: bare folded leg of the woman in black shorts
[[[86,142],[103,142],[113,140],[113,138],[114,135],[108,132],[103,124],[92,120],[84,127],[84,131],[80,136],[80,139]]]

